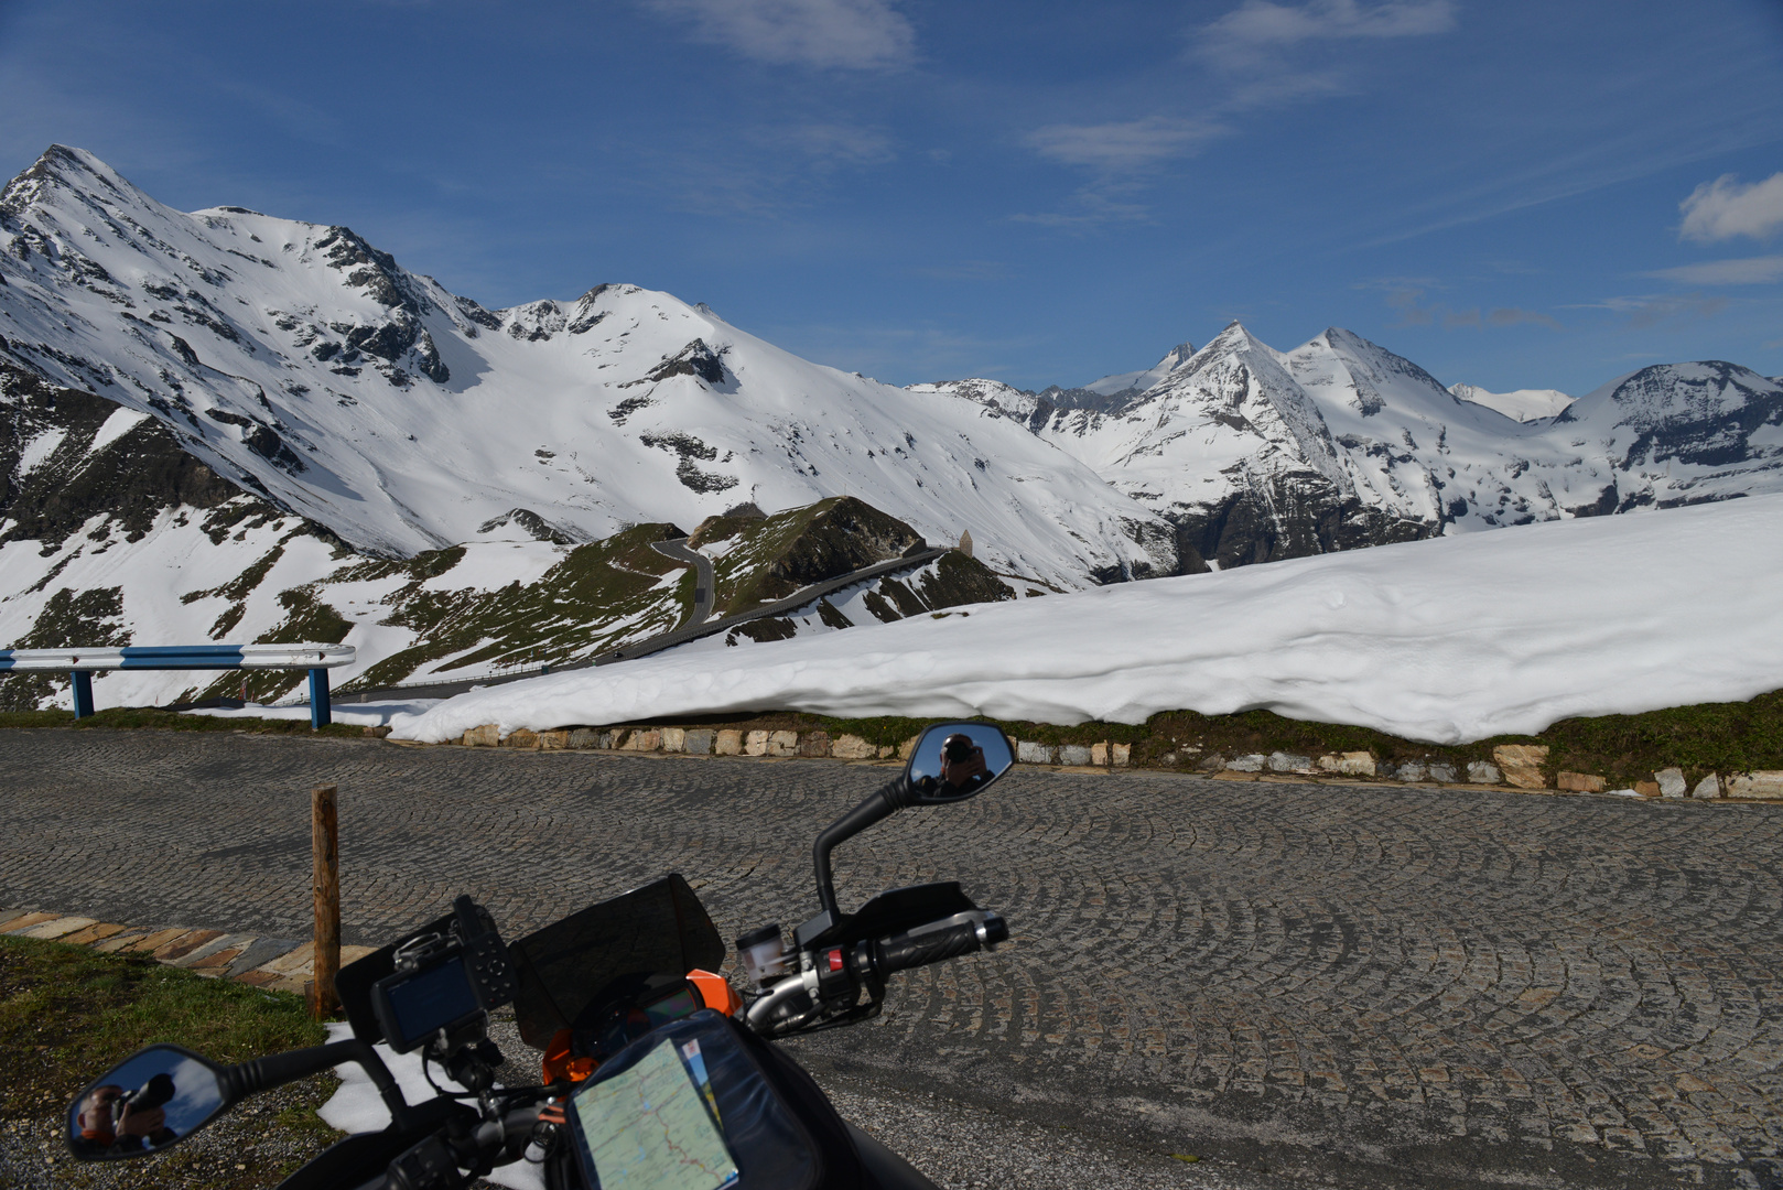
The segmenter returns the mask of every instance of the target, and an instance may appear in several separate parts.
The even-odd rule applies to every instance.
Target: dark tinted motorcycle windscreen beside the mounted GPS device
[[[521,976],[521,1040],[544,1049],[590,1006],[654,979],[724,963],[724,938],[679,874],[590,905],[508,947]]]

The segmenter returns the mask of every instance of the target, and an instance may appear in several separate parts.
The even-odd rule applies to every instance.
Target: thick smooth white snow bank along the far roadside
[[[1163,578],[474,690],[392,735],[788,708],[1268,708],[1442,744],[1783,687],[1783,496]]]

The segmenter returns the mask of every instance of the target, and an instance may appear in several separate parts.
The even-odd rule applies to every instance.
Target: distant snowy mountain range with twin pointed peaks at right
[[[1232,323],[1111,409],[984,400],[1177,525],[1184,569],[1783,491],[1783,385],[1662,364],[1517,421],[1348,330],[1277,351]],[[1564,394],[1562,394],[1564,396]]]

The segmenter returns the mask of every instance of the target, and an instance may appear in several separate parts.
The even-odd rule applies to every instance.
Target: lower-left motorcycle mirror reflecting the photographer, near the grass
[[[68,1147],[84,1161],[148,1156],[228,1106],[223,1070],[178,1045],[141,1049],[68,1106]]]

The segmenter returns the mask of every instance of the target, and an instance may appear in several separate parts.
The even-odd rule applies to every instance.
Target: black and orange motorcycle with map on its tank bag
[[[342,967],[351,1038],[223,1067],[150,1045],[68,1108],[82,1160],[141,1158],[244,1099],[357,1063],[390,1113],[291,1174],[282,1190],[458,1190],[526,1161],[549,1190],[934,1190],[892,1149],[847,1124],[774,1038],[879,1013],[899,971],[995,949],[1009,928],[957,881],[836,903],[831,851],[906,806],[977,796],[1015,764],[1000,730],[931,726],[890,783],[811,847],[818,912],[736,938],[744,988],[717,974],[726,947],[679,876],[633,888],[506,944],[480,905]],[[540,1081],[501,1087],[489,1013],[514,1004]],[[410,1104],[374,1049],[421,1054],[437,1092]],[[444,1090],[439,1067],[460,1090]]]

